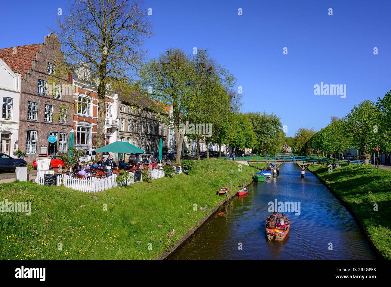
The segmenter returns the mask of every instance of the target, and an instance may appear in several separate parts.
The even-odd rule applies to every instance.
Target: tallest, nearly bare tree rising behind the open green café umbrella
[[[63,44],[68,67],[90,71],[85,82],[99,98],[95,143],[99,148],[104,145],[107,85],[113,81],[115,88],[131,81],[145,55],[143,43],[152,35],[151,24],[138,1],[74,0],[68,9],[67,15],[57,18],[58,29],[52,31]]]

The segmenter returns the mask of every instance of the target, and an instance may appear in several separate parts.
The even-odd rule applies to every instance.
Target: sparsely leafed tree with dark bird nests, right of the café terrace
[[[204,89],[220,77],[222,86],[230,87],[234,77],[211,59],[206,50],[188,57],[179,48],[169,48],[157,59],[151,59],[140,71],[140,86],[158,102],[172,105],[172,122],[178,155],[182,152],[184,132],[188,119],[197,118],[199,109],[193,104]],[[176,159],[180,162],[180,157]]]

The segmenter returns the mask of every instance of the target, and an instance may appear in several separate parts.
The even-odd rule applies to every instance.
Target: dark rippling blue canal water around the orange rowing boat
[[[282,164],[276,178],[249,185],[248,196],[223,205],[168,259],[376,259],[339,200],[309,171],[300,178],[300,171]],[[300,215],[285,212],[291,228],[282,242],[265,236],[268,203],[275,200],[300,201]]]

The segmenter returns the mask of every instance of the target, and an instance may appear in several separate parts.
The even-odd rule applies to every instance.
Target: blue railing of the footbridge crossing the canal
[[[352,159],[330,159],[327,157],[303,157],[297,155],[233,155],[233,156],[221,156],[219,159],[226,160],[245,160],[249,162],[269,162],[269,163],[281,163],[281,162],[303,162],[312,164],[363,164],[364,160],[352,160]]]

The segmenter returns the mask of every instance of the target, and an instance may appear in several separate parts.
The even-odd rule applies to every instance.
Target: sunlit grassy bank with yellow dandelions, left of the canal
[[[226,198],[216,194],[219,188],[232,181],[237,190],[253,171],[242,166],[239,172],[233,161],[201,160],[189,175],[94,194],[1,184],[0,201],[31,201],[32,211],[0,213],[0,259],[156,258]]]

